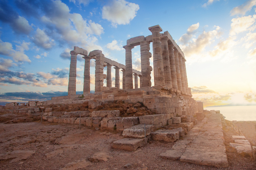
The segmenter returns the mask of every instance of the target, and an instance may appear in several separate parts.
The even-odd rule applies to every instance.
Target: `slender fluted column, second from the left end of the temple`
[[[83,56],[84,58],[84,90],[83,94],[90,93],[90,83],[91,83],[91,77],[90,77],[90,60],[91,57]]]

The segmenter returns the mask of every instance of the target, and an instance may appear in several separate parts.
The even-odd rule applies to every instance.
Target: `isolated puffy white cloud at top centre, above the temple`
[[[125,0],[112,0],[102,8],[102,18],[111,22],[113,27],[129,24],[136,16],[139,5]]]

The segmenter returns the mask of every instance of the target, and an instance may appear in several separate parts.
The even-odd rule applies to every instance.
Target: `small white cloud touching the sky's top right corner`
[[[238,14],[245,15],[245,13],[250,11],[252,9],[252,7],[255,5],[256,5],[256,0],[249,0],[249,1],[245,2],[244,4],[233,8],[230,11],[230,14],[231,15],[238,15]],[[255,8],[255,12],[256,12],[256,8]]]

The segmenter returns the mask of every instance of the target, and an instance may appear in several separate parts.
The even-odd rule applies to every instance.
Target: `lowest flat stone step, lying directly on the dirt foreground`
[[[113,142],[112,147],[115,149],[124,149],[134,151],[138,147],[144,146],[147,143],[147,138],[123,138]]]

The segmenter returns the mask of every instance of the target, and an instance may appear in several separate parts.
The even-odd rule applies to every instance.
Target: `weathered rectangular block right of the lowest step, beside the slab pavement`
[[[175,142],[179,140],[179,131],[171,131],[169,129],[159,129],[151,132],[153,140]]]

